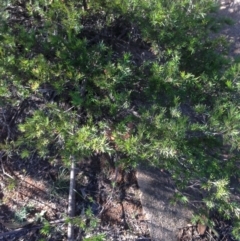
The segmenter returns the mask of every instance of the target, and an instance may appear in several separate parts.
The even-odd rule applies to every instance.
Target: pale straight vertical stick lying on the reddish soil
[[[71,172],[70,172],[70,186],[69,186],[69,196],[68,196],[68,216],[73,218],[75,216],[75,158],[71,158]],[[67,237],[68,241],[74,241],[74,228],[72,222],[68,223]]]

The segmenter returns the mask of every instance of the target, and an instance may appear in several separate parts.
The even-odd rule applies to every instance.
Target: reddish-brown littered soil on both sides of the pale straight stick
[[[54,224],[48,240],[66,240],[69,170],[57,160],[48,164],[35,156],[30,162],[2,158],[1,164],[0,240],[40,240],[44,221]],[[99,233],[104,233],[106,240],[149,237],[133,170],[111,167],[107,156],[82,160],[77,168],[76,216],[82,217],[89,229],[76,225],[75,240]],[[94,227],[84,215],[87,209],[98,220]]]

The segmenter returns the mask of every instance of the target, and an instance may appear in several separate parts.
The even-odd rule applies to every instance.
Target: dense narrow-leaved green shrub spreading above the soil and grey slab
[[[215,1],[26,1],[21,24],[9,5],[19,1],[0,3],[0,107],[17,135],[1,140],[5,155],[148,162],[172,174],[176,199],[198,180],[206,207],[239,222],[228,180],[239,177],[240,64],[209,35],[230,24]]]

